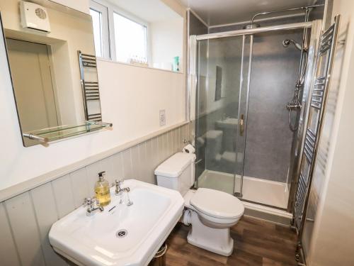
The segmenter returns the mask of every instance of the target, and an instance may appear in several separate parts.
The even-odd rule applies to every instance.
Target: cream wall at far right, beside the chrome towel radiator
[[[351,0],[333,1],[333,15],[342,16],[338,38],[346,38],[346,46],[339,45],[336,52],[324,138],[320,143],[327,160],[307,258],[310,266],[354,265],[353,10]]]

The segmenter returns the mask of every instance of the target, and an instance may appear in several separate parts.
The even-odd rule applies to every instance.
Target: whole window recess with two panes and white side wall
[[[90,3],[98,57],[179,70],[184,21],[164,1],[139,1],[139,5],[120,0]]]

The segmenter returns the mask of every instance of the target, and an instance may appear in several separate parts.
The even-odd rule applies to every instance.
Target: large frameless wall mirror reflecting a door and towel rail
[[[23,145],[112,126],[101,121],[91,16],[49,0],[0,10]]]

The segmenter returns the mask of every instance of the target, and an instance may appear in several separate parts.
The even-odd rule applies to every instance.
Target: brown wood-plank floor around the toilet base
[[[288,266],[295,262],[296,234],[285,226],[243,217],[232,227],[234,253],[229,257],[210,253],[187,243],[189,227],[178,223],[166,240],[168,266],[235,265]]]

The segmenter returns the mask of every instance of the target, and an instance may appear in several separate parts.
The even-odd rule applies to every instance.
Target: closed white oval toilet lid
[[[216,218],[239,218],[244,214],[244,204],[239,199],[215,189],[197,189],[190,204],[198,211]]]

